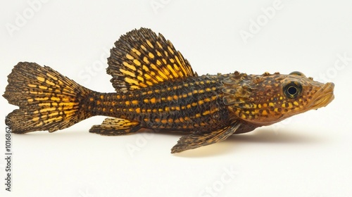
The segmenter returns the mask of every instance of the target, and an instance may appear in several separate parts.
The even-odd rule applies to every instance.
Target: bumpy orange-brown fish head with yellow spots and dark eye
[[[327,106],[334,99],[334,83],[321,83],[301,72],[246,75],[234,72],[224,80],[223,97],[234,118],[253,125],[275,122]]]

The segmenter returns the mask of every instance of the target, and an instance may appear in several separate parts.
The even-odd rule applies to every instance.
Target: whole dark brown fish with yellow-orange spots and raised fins
[[[19,62],[4,98],[15,134],[55,132],[95,115],[107,116],[89,132],[106,136],[143,129],[184,134],[171,153],[215,144],[287,117],[327,106],[334,83],[294,71],[198,75],[173,44],[148,28],[120,36],[108,57],[115,92],[77,84],[49,66]]]

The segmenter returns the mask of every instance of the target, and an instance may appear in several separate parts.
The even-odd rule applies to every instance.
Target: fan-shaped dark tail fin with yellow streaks
[[[18,63],[8,75],[3,95],[20,107],[8,114],[12,132],[55,132],[91,117],[82,102],[91,93],[48,66]]]

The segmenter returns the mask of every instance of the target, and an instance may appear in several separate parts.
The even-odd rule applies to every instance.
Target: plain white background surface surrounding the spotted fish
[[[334,66],[339,55],[352,57],[352,1],[48,1],[36,11],[33,1],[1,3],[1,91],[18,61],[113,91],[106,51],[143,26],[163,33],[199,74],[300,70],[322,82],[327,75],[336,98],[327,108],[177,155],[170,148],[180,134],[90,134],[103,117],[53,134],[13,134],[13,191],[4,189],[1,159],[1,196],[352,196],[352,61]],[[265,23],[263,10],[273,4],[275,15],[245,44],[239,32],[249,32],[251,20]],[[24,11],[22,27],[9,33],[6,25]],[[16,107],[0,99],[4,118]],[[129,152],[132,146],[138,151]]]

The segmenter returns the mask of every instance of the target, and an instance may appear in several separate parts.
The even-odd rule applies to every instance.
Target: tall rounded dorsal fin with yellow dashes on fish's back
[[[180,77],[197,76],[162,34],[141,28],[122,35],[108,58],[107,73],[116,91],[148,87]]]

